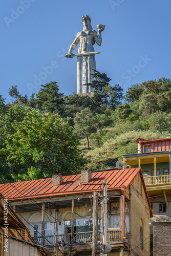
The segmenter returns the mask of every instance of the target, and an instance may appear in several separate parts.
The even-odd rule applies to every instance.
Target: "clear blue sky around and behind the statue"
[[[134,83],[171,79],[170,13],[170,0],[1,0],[0,94],[9,102],[9,88],[17,85],[30,97],[50,81],[65,95],[76,92],[76,58],[63,55],[83,28],[82,15],[96,31],[106,26],[101,47],[94,46],[101,52],[96,69],[112,85],[125,92]]]

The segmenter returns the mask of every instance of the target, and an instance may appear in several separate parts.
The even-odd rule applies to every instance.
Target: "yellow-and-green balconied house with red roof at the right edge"
[[[153,227],[162,226],[163,221],[170,220],[171,212],[171,186],[170,186],[170,149],[171,138],[144,140],[137,139],[138,154],[122,155],[123,161],[130,166],[130,168],[141,167],[143,178],[145,181],[149,200],[153,209],[153,218],[151,222],[156,224],[151,225],[151,240],[156,241],[159,237],[158,232],[154,232]],[[163,224],[164,225],[164,224]],[[167,223],[168,226],[168,223]],[[164,225],[162,228],[165,228]],[[165,232],[167,233],[167,231]],[[163,239],[163,238],[162,238]],[[162,241],[161,239],[161,241]],[[155,250],[154,243],[153,248]],[[155,255],[169,255],[165,250],[164,244],[161,242],[162,254]],[[165,253],[163,252],[165,250]],[[156,252],[155,252],[156,253]],[[170,254],[171,255],[171,254]]]

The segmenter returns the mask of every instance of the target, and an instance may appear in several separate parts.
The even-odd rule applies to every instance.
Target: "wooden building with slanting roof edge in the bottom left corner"
[[[35,244],[28,228],[0,194],[0,255],[52,256],[50,251]]]

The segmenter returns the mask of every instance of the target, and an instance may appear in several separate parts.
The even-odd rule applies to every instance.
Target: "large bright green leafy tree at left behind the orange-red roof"
[[[15,116],[23,113],[24,117],[11,122],[13,133],[6,135],[0,154],[14,180],[79,172],[86,160],[68,120],[21,105],[14,105],[11,110]]]

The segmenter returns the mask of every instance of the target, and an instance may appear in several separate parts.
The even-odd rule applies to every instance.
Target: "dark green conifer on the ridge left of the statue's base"
[[[59,93],[57,82],[41,85],[41,89],[36,94],[36,105],[41,111],[62,114],[63,112],[63,93]]]

